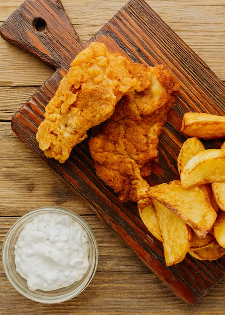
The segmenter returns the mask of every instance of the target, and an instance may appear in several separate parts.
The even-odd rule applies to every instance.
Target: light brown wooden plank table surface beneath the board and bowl
[[[22,2],[1,0],[0,25]],[[61,2],[84,42],[126,4],[123,0]],[[147,3],[225,81],[225,1]],[[225,279],[192,306],[180,301],[13,133],[13,114],[53,72],[54,69],[0,38],[0,248],[19,216],[46,205],[60,206],[82,215],[93,228],[99,245],[98,269],[79,296],[60,304],[41,304],[23,297],[10,285],[1,260],[1,315],[225,314]]]

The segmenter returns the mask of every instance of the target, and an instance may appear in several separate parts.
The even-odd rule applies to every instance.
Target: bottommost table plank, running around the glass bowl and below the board
[[[166,288],[96,216],[83,215],[99,246],[99,264],[88,288],[69,301],[41,304],[28,300],[9,283],[0,252],[1,315],[211,315],[223,314],[224,289],[220,282],[191,306]],[[0,248],[17,217],[0,218]],[[116,272],[115,272],[116,270]],[[160,299],[159,299],[160,297]],[[216,307],[216,312],[215,312]]]

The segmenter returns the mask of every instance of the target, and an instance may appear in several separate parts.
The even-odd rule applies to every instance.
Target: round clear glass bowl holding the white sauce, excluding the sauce
[[[67,215],[72,218],[72,220],[81,225],[86,233],[89,244],[89,267],[86,274],[80,281],[74,282],[67,287],[62,287],[51,291],[42,291],[39,289],[32,291],[27,285],[27,280],[16,271],[14,251],[15,245],[24,226],[28,222],[32,221],[36,216],[43,213]],[[40,303],[59,303],[77,296],[89,285],[93,279],[97,265],[98,245],[91,227],[80,215],[59,207],[39,208],[26,213],[20,217],[10,228],[3,244],[3,266],[9,281],[22,295]]]

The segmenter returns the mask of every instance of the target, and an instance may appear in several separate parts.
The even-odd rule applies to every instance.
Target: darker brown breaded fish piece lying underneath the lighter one
[[[151,85],[123,96],[113,115],[93,128],[89,140],[98,177],[122,202],[148,200],[144,178],[158,159],[159,136],[179,93],[179,82],[165,65],[151,72]]]

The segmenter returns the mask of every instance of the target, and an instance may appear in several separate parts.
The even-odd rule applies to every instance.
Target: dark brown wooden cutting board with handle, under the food
[[[97,216],[118,235],[183,301],[195,303],[225,273],[225,258],[198,261],[187,255],[175,266],[165,266],[162,244],[142,224],[133,203],[122,204],[95,174],[87,140],[77,145],[64,164],[47,159],[35,135],[44,108],[53,97],[73,58],[84,49],[58,0],[27,0],[0,28],[7,41],[55,67],[55,73],[12,118],[14,132],[74,190]],[[178,178],[177,155],[185,140],[180,133],[187,111],[224,114],[225,86],[207,65],[141,0],[129,1],[90,42],[105,43],[149,65],[166,63],[181,82],[181,93],[170,112],[160,140],[160,161],[151,184]],[[204,143],[219,147],[219,141]],[[147,292],[146,292],[147,298]]]

